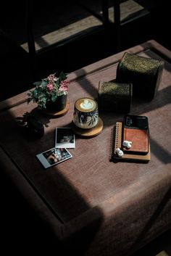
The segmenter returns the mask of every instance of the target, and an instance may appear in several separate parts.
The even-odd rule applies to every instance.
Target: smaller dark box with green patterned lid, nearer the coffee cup
[[[128,113],[132,100],[131,83],[99,82],[99,110]]]

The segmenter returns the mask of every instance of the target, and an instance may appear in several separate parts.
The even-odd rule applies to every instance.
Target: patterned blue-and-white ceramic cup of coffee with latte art
[[[73,123],[83,129],[96,126],[99,120],[98,104],[91,98],[80,98],[75,102]]]

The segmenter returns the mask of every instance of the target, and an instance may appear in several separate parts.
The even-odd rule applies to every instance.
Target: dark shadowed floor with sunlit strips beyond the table
[[[114,26],[113,0],[108,5],[108,26],[102,22],[102,0],[28,1],[36,46],[33,58],[28,54],[25,2],[12,1],[9,6],[6,1],[1,9],[1,84],[10,73],[15,86],[4,87],[0,100],[33,88],[33,81],[49,73],[70,73],[144,41],[154,39],[171,49],[167,0],[121,0],[120,37]]]

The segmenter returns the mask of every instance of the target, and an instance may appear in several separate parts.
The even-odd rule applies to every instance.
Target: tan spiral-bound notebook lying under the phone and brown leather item
[[[122,122],[117,122],[114,125],[113,133],[113,144],[112,144],[112,160],[121,160],[121,161],[133,161],[133,162],[149,162],[151,158],[150,153],[150,144],[149,152],[147,154],[123,154],[122,157],[118,157],[116,149],[119,147],[122,149]]]

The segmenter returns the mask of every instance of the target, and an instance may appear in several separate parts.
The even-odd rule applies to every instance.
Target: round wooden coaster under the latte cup
[[[103,121],[101,120],[101,118],[99,117],[99,121],[96,124],[96,126],[94,126],[91,129],[83,129],[83,128],[79,128],[78,126],[76,126],[73,122],[72,122],[72,129],[73,131],[80,135],[83,136],[85,138],[91,138],[94,136],[97,136],[99,133],[101,133],[102,129],[103,129]]]

